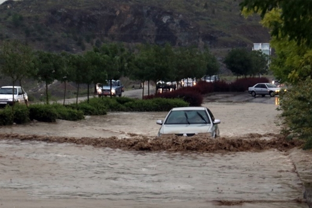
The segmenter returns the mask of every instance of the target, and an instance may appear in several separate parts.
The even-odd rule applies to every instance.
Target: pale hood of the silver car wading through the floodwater
[[[207,133],[211,132],[211,124],[170,124],[163,125],[162,134]]]

